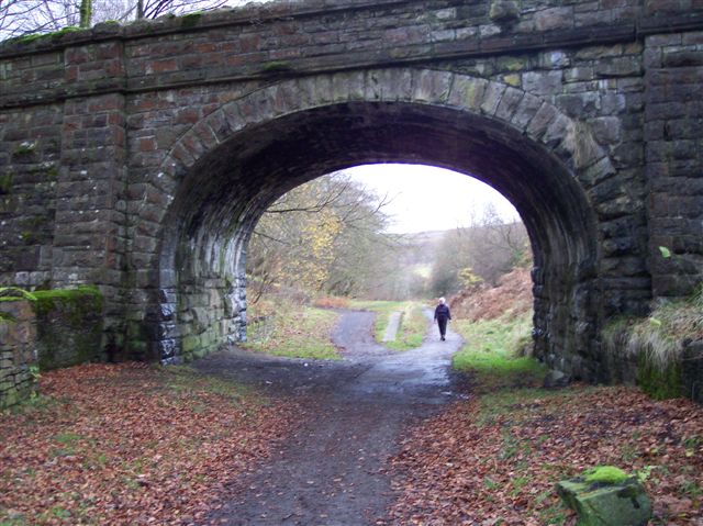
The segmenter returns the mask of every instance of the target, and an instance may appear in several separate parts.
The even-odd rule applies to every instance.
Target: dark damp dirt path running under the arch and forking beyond
[[[376,525],[393,501],[384,472],[402,429],[451,400],[450,356],[461,345],[429,327],[422,347],[397,354],[371,337],[373,314],[343,311],[343,361],[305,361],[233,349],[198,362],[208,373],[303,395],[301,426],[268,462],[233,482],[207,524]]]

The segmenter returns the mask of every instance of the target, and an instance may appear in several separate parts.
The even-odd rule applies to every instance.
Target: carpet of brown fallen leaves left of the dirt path
[[[298,407],[188,368],[43,374],[0,413],[0,524],[192,524],[287,436]]]

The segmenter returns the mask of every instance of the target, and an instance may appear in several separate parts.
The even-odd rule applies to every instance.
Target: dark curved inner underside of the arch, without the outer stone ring
[[[261,214],[299,184],[373,163],[448,168],[503,194],[534,254],[536,355],[553,367],[570,356],[577,378],[592,376],[579,357],[598,326],[595,220],[573,175],[544,145],[495,120],[405,102],[328,104],[249,125],[183,175],[147,321],[153,358],[180,361],[243,339],[246,249]]]

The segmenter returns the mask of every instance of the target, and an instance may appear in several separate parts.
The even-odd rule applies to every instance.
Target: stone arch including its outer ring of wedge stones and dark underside
[[[310,141],[314,154],[304,149]],[[241,338],[245,247],[260,213],[306,180],[372,161],[470,174],[513,202],[536,258],[537,351],[577,377],[598,377],[598,214],[589,190],[614,172],[610,159],[583,125],[538,97],[433,69],[281,81],[222,105],[180,137],[158,174],[172,194],[149,265],[152,356],[178,360]]]

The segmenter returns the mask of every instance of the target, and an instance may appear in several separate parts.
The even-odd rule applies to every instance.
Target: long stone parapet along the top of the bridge
[[[0,103],[633,41],[702,19],[663,1],[540,0],[509,18],[491,3],[269,3],[19,40],[0,46]]]

